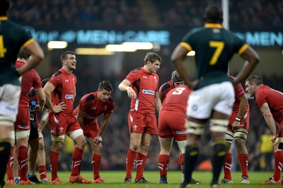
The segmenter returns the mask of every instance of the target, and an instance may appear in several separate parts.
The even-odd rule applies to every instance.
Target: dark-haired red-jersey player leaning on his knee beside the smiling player
[[[79,124],[83,129],[83,134],[88,138],[93,149],[91,164],[93,165],[93,183],[104,183],[102,177],[99,175],[102,135],[105,131],[110,116],[115,108],[115,101],[110,97],[112,93],[112,85],[109,81],[102,81],[99,83],[96,92],[83,95],[79,102],[79,106],[74,110]],[[103,114],[103,119],[98,126],[97,118]]]

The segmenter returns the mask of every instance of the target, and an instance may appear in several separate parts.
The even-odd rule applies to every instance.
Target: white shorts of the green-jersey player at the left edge
[[[18,100],[21,86],[4,84],[0,86],[0,124],[13,126],[18,114]]]

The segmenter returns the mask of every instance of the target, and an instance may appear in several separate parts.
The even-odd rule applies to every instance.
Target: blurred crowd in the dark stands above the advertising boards
[[[154,0],[149,6],[156,13],[161,27],[193,28],[203,24],[202,13],[209,3],[221,0]],[[11,19],[38,27],[93,27],[146,28],[144,9],[138,0],[17,0],[13,1]],[[231,30],[281,30],[283,1],[230,0],[229,25]],[[152,26],[152,25],[151,25]]]

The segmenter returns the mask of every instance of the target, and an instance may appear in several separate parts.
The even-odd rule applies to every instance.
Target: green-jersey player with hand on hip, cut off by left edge
[[[44,58],[44,53],[33,37],[21,25],[7,18],[9,0],[0,0],[0,187],[4,187],[6,165],[11,150],[13,123],[18,114],[18,100],[21,94],[19,76],[33,69]],[[15,68],[21,47],[32,54],[28,64]]]

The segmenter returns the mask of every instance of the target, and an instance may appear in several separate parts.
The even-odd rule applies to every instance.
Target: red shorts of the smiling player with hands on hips
[[[53,114],[49,116],[50,133],[53,135],[63,135],[66,132],[81,129],[78,120],[73,114]]]

